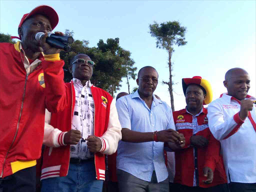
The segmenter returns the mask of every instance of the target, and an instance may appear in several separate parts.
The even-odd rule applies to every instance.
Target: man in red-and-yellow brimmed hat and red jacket
[[[200,76],[182,78],[182,88],[186,107],[174,111],[173,119],[185,137],[185,146],[175,151],[173,191],[228,191],[220,143],[209,130],[203,107],[212,100],[210,83]]]

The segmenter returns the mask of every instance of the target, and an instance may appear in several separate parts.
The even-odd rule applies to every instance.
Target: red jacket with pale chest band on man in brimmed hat
[[[193,186],[194,172],[196,184],[200,187],[211,187],[226,183],[226,174],[223,165],[223,159],[220,155],[220,143],[211,134],[208,127],[207,109],[196,116],[199,130],[193,134],[193,116],[186,112],[186,109],[173,112],[173,119],[176,130],[184,134],[185,146],[175,151],[175,177],[174,182],[187,186]],[[197,148],[190,145],[192,135],[201,135],[208,139],[208,146]],[[208,166],[213,171],[213,181],[211,184],[205,184],[202,180],[203,167]]]

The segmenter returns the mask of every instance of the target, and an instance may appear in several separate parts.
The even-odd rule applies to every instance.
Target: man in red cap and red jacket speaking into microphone
[[[60,49],[45,42],[57,23],[53,8],[37,6],[21,18],[21,41],[0,43],[0,191],[35,190],[45,108],[57,112],[66,105]],[[37,32],[45,33],[41,42]]]

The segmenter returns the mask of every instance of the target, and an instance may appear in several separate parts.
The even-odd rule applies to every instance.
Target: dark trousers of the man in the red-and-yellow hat
[[[203,188],[199,186],[186,186],[179,183],[173,183],[170,186],[170,192],[228,192],[228,186],[227,183],[224,183]]]

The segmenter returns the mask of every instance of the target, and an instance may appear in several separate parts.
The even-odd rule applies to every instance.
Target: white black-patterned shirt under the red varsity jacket
[[[79,79],[72,79],[75,90],[74,113],[71,128],[79,130],[82,138],[86,139],[94,134],[94,100],[91,94],[91,83],[87,81],[83,86]],[[88,159],[94,157],[89,152],[87,141],[70,144],[70,157]]]

